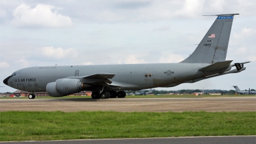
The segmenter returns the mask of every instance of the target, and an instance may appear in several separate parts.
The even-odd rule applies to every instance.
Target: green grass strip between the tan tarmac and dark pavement
[[[256,135],[256,112],[0,113],[0,141],[235,135]]]

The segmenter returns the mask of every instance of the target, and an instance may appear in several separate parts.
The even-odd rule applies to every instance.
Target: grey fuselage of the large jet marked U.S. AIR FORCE
[[[99,73],[115,74],[111,79],[114,90],[142,90],[172,87],[184,81],[217,74],[198,71],[205,63],[154,63],[129,65],[74,65],[58,67],[29,67],[17,70],[8,85],[28,92],[46,91],[46,85],[65,77],[90,76]],[[79,77],[80,78],[80,77]],[[90,90],[89,88],[86,88]],[[113,89],[113,88],[111,88]]]

